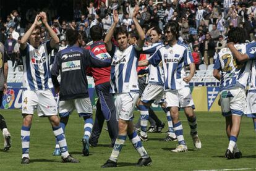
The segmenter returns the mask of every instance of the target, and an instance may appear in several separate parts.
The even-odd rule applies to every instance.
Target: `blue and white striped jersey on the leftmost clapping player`
[[[20,49],[23,60],[23,87],[27,90],[37,91],[53,88],[51,81],[50,42],[46,41],[35,49],[27,43],[25,49]]]

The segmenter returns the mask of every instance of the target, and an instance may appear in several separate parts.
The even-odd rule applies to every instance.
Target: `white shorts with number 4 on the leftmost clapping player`
[[[37,108],[38,117],[57,115],[57,102],[51,90],[30,91],[22,93],[22,114],[34,114]]]

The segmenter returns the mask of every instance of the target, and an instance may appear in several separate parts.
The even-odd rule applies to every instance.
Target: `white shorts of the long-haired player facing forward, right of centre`
[[[166,91],[165,102],[166,107],[192,107],[195,109],[189,87],[184,87],[181,90]]]

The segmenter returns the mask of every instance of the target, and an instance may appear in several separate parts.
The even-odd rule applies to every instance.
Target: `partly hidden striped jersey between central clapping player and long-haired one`
[[[152,55],[162,46],[163,43],[154,43],[152,44],[152,46],[143,47],[142,53]],[[150,59],[150,57],[148,57],[148,59]],[[148,65],[148,83],[164,85],[163,66],[157,65],[156,67],[154,67],[153,65]]]

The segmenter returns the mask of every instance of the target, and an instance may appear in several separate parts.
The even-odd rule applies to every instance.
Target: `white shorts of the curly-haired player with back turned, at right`
[[[220,92],[221,112],[224,117],[229,115],[242,116],[246,107],[245,90],[242,88],[232,88]]]

